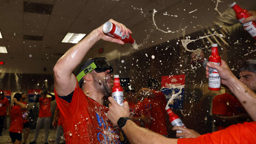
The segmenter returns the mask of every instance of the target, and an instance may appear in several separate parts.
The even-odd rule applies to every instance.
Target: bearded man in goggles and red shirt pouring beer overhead
[[[109,21],[120,28],[123,36],[132,33],[123,24],[112,19]],[[53,68],[56,101],[63,116],[64,137],[68,144],[123,141],[119,129],[107,119],[108,108],[103,105],[103,97],[111,94],[112,67],[106,58],[80,63],[100,39],[124,44],[120,39],[105,35],[102,25],[70,48]]]

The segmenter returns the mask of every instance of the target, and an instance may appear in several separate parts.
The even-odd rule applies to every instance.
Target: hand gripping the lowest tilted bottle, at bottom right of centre
[[[179,137],[182,137],[182,138],[197,138],[201,135],[193,129],[188,129],[188,128],[184,128],[184,127],[176,126],[176,127],[173,127],[172,130],[182,131],[181,133],[176,134],[177,138],[179,138]]]

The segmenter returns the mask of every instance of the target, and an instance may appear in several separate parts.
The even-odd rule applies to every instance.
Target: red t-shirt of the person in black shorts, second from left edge
[[[22,121],[22,113],[20,106],[12,106],[10,110],[11,117],[11,126],[9,128],[10,132],[13,133],[22,133],[23,129],[23,121]]]

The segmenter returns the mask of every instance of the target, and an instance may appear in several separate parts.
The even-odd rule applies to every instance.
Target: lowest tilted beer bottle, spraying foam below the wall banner
[[[169,115],[169,120],[171,122],[171,125],[173,127],[175,126],[180,126],[180,127],[185,127],[185,125],[183,124],[183,122],[181,121],[180,117],[175,114],[174,112],[172,112],[171,108],[169,106],[165,107],[165,110],[167,111],[168,115]],[[182,131],[180,130],[176,130],[176,133],[181,133]],[[182,138],[182,137],[180,137]]]

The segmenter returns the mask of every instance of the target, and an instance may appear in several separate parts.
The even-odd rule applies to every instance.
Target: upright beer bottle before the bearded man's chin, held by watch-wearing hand
[[[112,97],[123,106],[123,88],[120,85],[119,75],[114,75],[114,86],[112,87]]]

